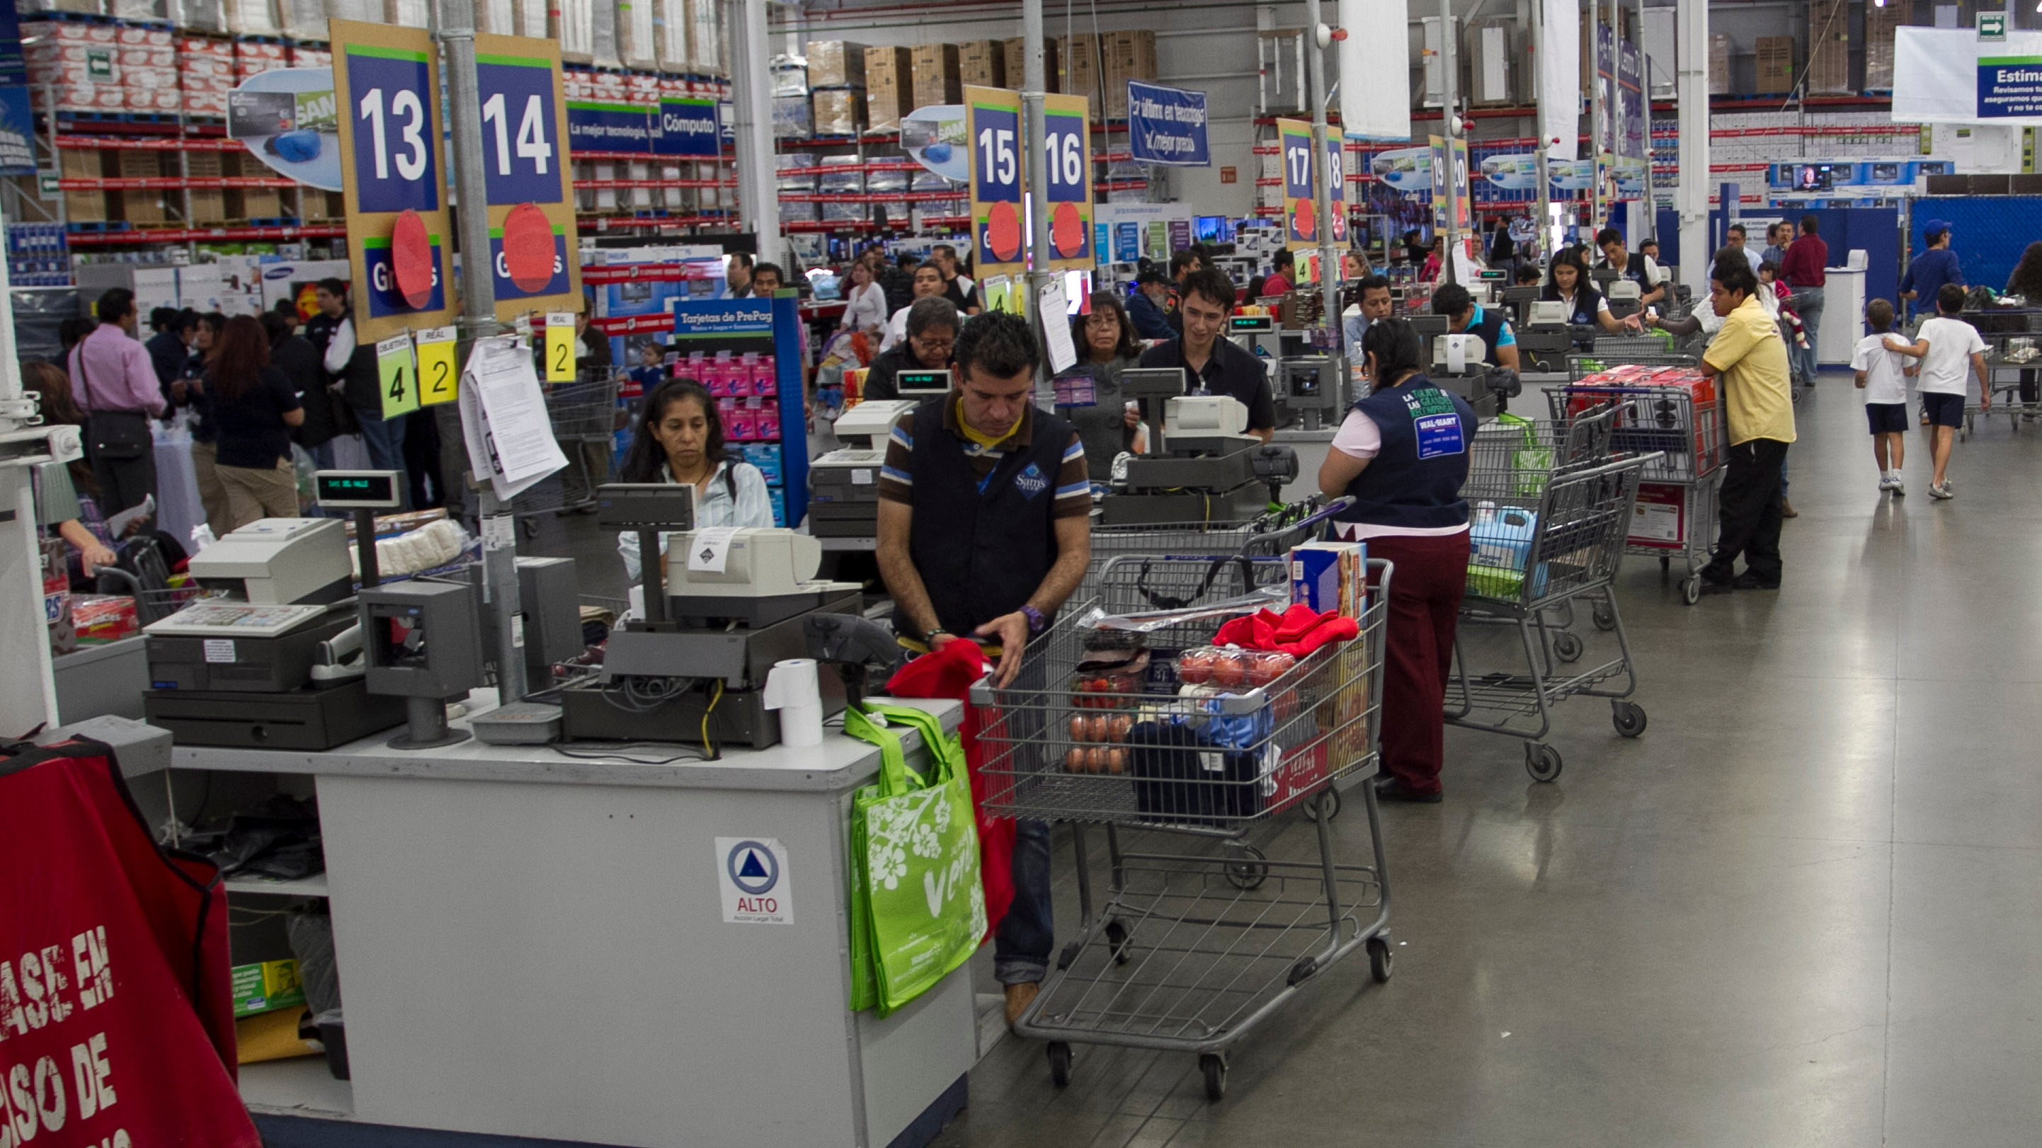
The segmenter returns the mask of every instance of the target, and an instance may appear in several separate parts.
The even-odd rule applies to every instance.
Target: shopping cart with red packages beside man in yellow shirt
[[[1713,388],[1697,394],[1681,384],[1572,384],[1546,392],[1552,417],[1568,421],[1611,409],[1611,449],[1640,453],[1627,554],[1660,560],[1670,574],[1679,558],[1681,599],[1701,601],[1701,568],[1715,547],[1715,519],[1723,482],[1723,409]],[[1615,617],[1595,607],[1595,625],[1613,629]]]

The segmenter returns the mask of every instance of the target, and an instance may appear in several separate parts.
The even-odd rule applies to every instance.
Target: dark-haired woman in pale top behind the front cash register
[[[696,529],[774,525],[766,476],[729,456],[717,400],[692,378],[670,378],[645,396],[619,480],[694,486]],[[662,556],[666,539],[660,535]],[[637,531],[617,535],[617,554],[625,560],[625,574],[637,582]]]

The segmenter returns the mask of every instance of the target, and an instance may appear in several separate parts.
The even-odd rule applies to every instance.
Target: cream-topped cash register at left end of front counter
[[[396,476],[366,496],[396,507]],[[331,503],[327,503],[331,505]],[[357,537],[374,580],[374,533]],[[404,719],[368,692],[339,519],[259,519],[198,552],[200,599],[143,627],[143,715],[184,746],[331,750]]]

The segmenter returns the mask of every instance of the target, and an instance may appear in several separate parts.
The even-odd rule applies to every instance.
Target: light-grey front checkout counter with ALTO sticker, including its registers
[[[259,1115],[645,1148],[925,1144],[978,1056],[972,976],[886,1019],[847,1009],[852,799],[880,766],[841,733],[858,678],[837,666],[874,648],[852,633],[862,619],[831,613],[856,613],[856,586],[815,580],[815,539],[784,529],[676,533],[662,578],[658,535],[692,527],[692,488],[598,498],[604,527],[639,531],[645,609],[582,692],[498,705],[478,688],[504,656],[478,588],[376,584],[368,527],[366,584],[337,596],[333,519],[229,535],[206,570],[237,596],[149,629],[151,705],[180,703],[184,729],[141,766],[159,780],[129,766],[151,823],[196,819],[216,791],[229,807],[265,786],[317,797],[325,872],[227,889],[241,909],[325,899],[349,1079],[249,1064],[243,1097]],[[545,615],[574,603],[549,586],[557,560],[523,560],[521,582],[525,562],[539,594],[510,658],[551,648]],[[784,746],[762,678],[809,652],[839,717],[819,746]],[[337,672],[378,721],[331,748],[276,731],[274,699],[343,688],[323,680]],[[907,705],[945,727],[962,715]],[[764,889],[747,854],[776,862]],[[739,895],[770,907],[739,911]]]

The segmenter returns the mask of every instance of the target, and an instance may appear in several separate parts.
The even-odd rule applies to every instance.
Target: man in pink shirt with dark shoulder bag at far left
[[[108,515],[155,494],[149,419],[163,413],[163,388],[149,349],[135,339],[135,292],[110,288],[92,308],[100,325],[71,347],[71,394],[86,413],[86,458]]]

